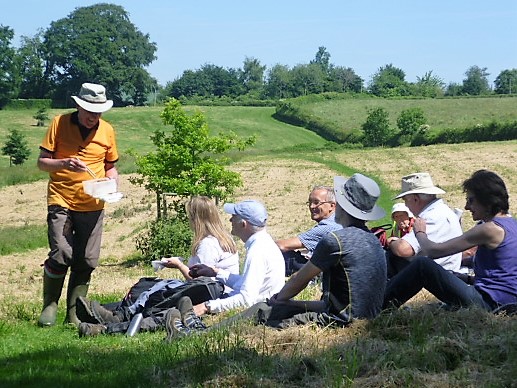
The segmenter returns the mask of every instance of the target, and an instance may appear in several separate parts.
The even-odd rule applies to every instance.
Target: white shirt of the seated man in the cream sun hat
[[[442,199],[437,199],[428,204],[418,216],[425,219],[427,237],[433,242],[441,243],[463,234],[458,216]],[[415,237],[415,232],[411,231],[402,238],[411,245],[415,251],[415,256],[418,256],[421,248]],[[461,252],[434,261],[446,270],[460,272]]]

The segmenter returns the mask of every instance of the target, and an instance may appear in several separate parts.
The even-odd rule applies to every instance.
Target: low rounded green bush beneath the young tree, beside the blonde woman
[[[161,218],[149,224],[149,228],[137,236],[136,248],[149,260],[164,256],[190,257],[192,231],[183,217]]]

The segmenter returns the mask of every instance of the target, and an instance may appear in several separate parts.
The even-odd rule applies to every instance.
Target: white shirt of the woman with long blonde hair
[[[239,254],[223,251],[214,236],[207,236],[201,240],[196,254],[189,259],[187,265],[191,267],[194,264],[206,264],[239,274]]]

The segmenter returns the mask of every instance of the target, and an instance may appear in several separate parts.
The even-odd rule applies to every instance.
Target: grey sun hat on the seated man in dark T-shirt
[[[378,220],[386,212],[375,202],[381,195],[379,186],[373,179],[362,174],[354,174],[350,179],[334,177],[336,201],[341,208],[359,220]]]

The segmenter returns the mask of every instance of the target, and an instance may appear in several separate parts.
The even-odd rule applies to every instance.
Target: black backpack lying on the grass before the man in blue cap
[[[156,283],[164,279],[144,277],[136,282],[122,300],[121,307],[129,307],[140,296],[142,292],[148,291]],[[224,285],[209,277],[199,277],[196,279],[183,282],[174,288],[165,288],[158,290],[149,296],[143,310],[137,311],[143,313],[144,317],[155,315],[156,313],[176,307],[178,300],[183,296],[188,296],[192,300],[192,304],[206,302],[212,299],[218,299],[223,295]]]

